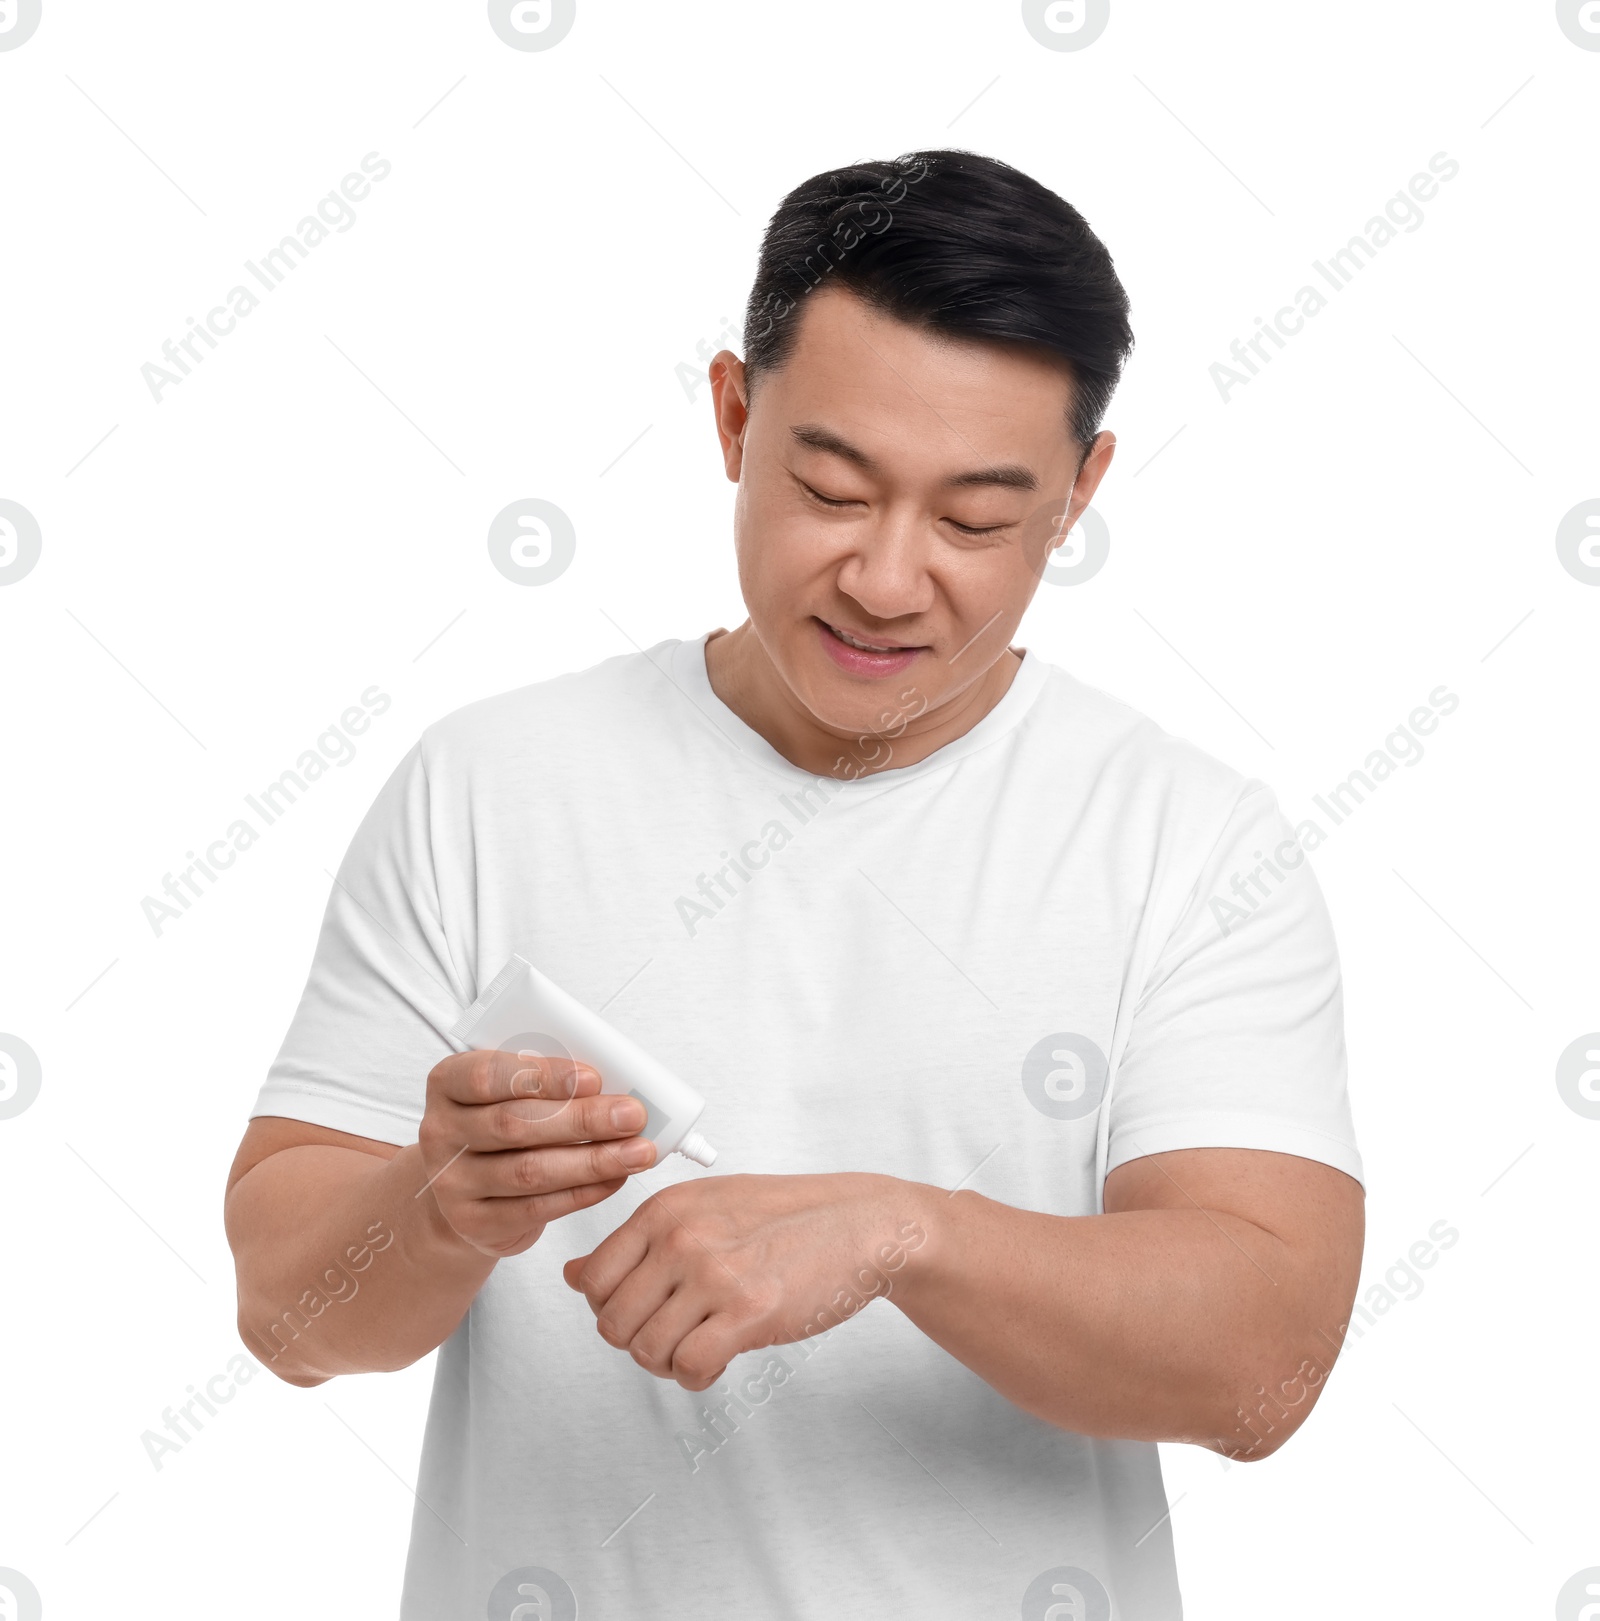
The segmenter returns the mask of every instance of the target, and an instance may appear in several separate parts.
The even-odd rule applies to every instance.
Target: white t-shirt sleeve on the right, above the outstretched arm
[[[1261,783],[1204,858],[1112,1081],[1107,1175],[1179,1148],[1273,1149],[1363,1182],[1333,922]]]

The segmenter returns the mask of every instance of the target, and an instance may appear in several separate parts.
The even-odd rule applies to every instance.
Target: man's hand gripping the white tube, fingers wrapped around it
[[[655,1164],[637,1097],[600,1091],[571,1059],[457,1052],[428,1073],[417,1133],[428,1191],[460,1238],[520,1255],[558,1216],[598,1204]]]

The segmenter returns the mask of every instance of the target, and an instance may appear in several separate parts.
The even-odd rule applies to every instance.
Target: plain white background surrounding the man
[[[956,144],[1084,212],[1138,336],[1110,559],[1018,644],[1292,817],[1461,700],[1313,858],[1363,1295],[1459,1242],[1286,1451],[1164,1448],[1187,1615],[1551,1613],[1600,1564],[1600,1120],[1555,1084],[1600,1028],[1600,590],[1555,550],[1600,496],[1597,96],[1543,0],[1117,0],[1080,52],[953,0],[580,0],[548,52],[480,3],[44,0],[0,52],[0,498],[44,537],[0,587],[0,1031],[44,1076],[0,1120],[0,1566],[57,1618],[394,1613],[431,1358],[263,1371],[159,1470],[141,1443],[240,1349],[222,1183],[329,874],[428,721],[741,621],[674,368],[786,190]],[[162,340],[374,151],[353,227],[152,400]],[[1224,404],[1213,361],[1436,152],[1425,222]],[[525,496],[577,528],[533,590],[485,545]],[[373,684],[355,760],[157,937],[143,898]]]

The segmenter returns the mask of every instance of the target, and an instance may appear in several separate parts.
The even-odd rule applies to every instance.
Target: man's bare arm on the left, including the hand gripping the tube
[[[251,1120],[224,1222],[240,1337],[279,1378],[404,1368],[443,1344],[494,1263],[655,1164],[637,1099],[571,1060],[452,1054],[407,1148]]]

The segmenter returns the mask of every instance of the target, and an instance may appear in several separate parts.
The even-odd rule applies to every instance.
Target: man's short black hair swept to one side
[[[948,337],[1025,344],[1067,361],[1067,431],[1088,456],[1133,350],[1110,253],[1063,198],[979,152],[906,152],[812,175],[762,237],[744,319],[754,392],[794,350],[828,284]]]

